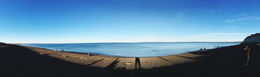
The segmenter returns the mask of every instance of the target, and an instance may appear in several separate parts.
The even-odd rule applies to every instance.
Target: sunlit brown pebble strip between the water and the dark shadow
[[[104,56],[104,55],[88,56],[86,53],[60,52],[60,51],[58,51],[58,53],[55,53],[55,50],[49,50],[49,49],[45,49],[45,48],[37,48],[37,47],[31,47],[31,46],[23,46],[23,47],[31,49],[35,52],[37,52],[39,50],[39,52],[43,53],[44,55],[63,59],[65,61],[69,61],[69,62],[73,62],[73,63],[74,62],[78,63],[77,61],[86,59],[88,61],[87,64],[85,61],[79,62],[79,64],[82,64],[82,65],[89,65],[89,64],[92,64],[93,62],[96,62],[99,60],[102,60],[105,62],[105,65],[102,62],[100,62],[100,64],[95,63],[93,65],[90,65],[91,67],[105,68],[105,67],[107,67],[106,63],[113,63],[114,61],[118,61],[119,63],[117,63],[117,66],[115,68],[125,67],[127,70],[135,69],[133,64],[130,64],[130,65],[127,64],[127,63],[135,63],[134,62],[135,57],[114,57],[114,56]],[[200,52],[200,53],[203,54],[204,52]],[[139,57],[139,58],[142,63],[141,66],[143,69],[152,69],[152,68],[172,66],[172,65],[175,66],[175,65],[180,65],[183,63],[196,62],[196,61],[203,60],[203,59],[185,59],[185,57],[196,58],[196,57],[211,56],[210,54],[209,55],[202,55],[202,54],[198,54],[197,52],[188,52],[188,53],[183,53],[183,54],[178,54],[178,55]],[[68,57],[62,57],[62,55],[65,55]],[[171,59],[174,61],[171,61]],[[153,63],[153,62],[157,62],[157,61],[159,61],[159,63]],[[161,63],[164,63],[164,64],[161,64]]]

